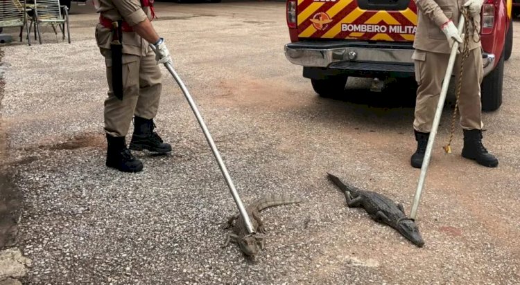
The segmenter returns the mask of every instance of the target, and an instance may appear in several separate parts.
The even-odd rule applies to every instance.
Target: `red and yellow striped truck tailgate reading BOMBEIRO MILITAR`
[[[412,42],[416,11],[413,0],[299,0],[298,37]]]

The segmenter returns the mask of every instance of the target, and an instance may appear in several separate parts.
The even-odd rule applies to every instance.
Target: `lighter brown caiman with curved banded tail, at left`
[[[244,252],[248,257],[254,258],[258,255],[260,250],[263,250],[265,245],[263,234],[266,233],[266,228],[263,226],[263,222],[260,219],[260,211],[277,205],[302,202],[304,202],[304,199],[275,194],[263,196],[257,201],[254,201],[245,208],[245,211],[248,212],[255,233],[250,235],[248,228],[245,227],[245,221],[241,214],[235,214],[227,221],[227,226],[225,228],[233,228],[233,231],[227,235],[223,247],[228,246],[230,242],[239,243],[242,252]],[[233,223],[235,220],[237,221]]]

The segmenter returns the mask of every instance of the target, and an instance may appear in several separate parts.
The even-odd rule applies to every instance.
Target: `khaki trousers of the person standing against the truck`
[[[413,59],[415,80],[419,84],[413,127],[416,131],[429,133],[433,125],[435,109],[437,109],[439,102],[440,89],[448,66],[449,54],[415,50]],[[458,55],[453,66],[456,84],[460,76],[461,59],[462,54]],[[465,59],[462,74],[462,88],[458,106],[462,129],[483,128],[480,103],[480,83],[483,80],[483,73],[480,48],[474,48],[469,51],[469,57]]]

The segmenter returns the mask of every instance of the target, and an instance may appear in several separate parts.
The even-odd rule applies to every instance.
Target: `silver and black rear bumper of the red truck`
[[[306,67],[361,73],[414,74],[411,43],[295,42],[286,44],[289,62]],[[483,53],[484,75],[494,68],[495,56]]]

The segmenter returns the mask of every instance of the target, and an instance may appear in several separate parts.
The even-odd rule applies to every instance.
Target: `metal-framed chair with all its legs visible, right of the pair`
[[[42,33],[40,26],[51,25],[55,35],[58,35],[56,26],[60,27],[62,39],[65,39],[65,30],[67,30],[67,41],[71,43],[71,32],[69,29],[69,9],[67,6],[60,6],[60,0],[34,0],[33,16],[29,19],[29,33],[31,26],[35,24],[38,40],[42,44]]]

